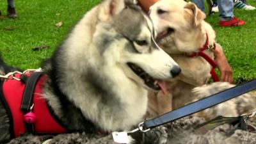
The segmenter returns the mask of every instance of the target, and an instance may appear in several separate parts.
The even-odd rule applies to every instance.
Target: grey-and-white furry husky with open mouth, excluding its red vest
[[[180,72],[152,33],[150,19],[128,0],[102,1],[74,26],[42,68],[41,97],[68,131],[125,131],[143,120],[147,90]],[[0,136],[10,138],[0,112]]]

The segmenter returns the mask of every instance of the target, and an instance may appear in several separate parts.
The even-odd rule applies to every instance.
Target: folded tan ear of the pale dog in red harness
[[[189,13],[193,15],[193,25],[198,26],[205,19],[206,15],[194,3],[189,2],[184,7]]]

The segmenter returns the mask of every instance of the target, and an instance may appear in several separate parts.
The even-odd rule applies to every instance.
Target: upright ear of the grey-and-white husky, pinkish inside
[[[111,19],[125,8],[125,0],[105,0],[103,8],[99,9],[99,19],[102,21]]]

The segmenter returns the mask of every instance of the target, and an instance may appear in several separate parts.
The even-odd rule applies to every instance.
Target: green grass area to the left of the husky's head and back
[[[4,3],[5,2],[5,3]],[[4,61],[20,68],[37,68],[65,38],[68,31],[99,0],[15,1],[19,17],[8,19],[6,1],[0,3],[0,51]],[[56,23],[63,22],[58,27]],[[47,49],[33,51],[34,47]]]

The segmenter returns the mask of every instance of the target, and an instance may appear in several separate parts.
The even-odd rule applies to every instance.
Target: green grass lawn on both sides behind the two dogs
[[[4,61],[20,68],[37,68],[65,38],[68,31],[84,13],[100,0],[30,0],[15,1],[19,17],[6,18],[6,1],[1,1],[0,51]],[[256,6],[256,1],[248,0]],[[218,13],[207,17],[217,32],[217,40],[223,46],[234,70],[236,83],[256,77],[256,10],[235,10],[235,15],[246,20],[237,28],[220,28]],[[61,26],[56,26],[62,22]],[[35,51],[35,48],[41,49]]]

